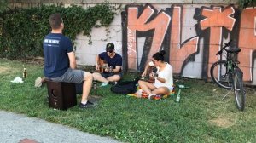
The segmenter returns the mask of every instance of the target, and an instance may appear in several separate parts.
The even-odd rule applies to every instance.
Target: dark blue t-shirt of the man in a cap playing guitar
[[[99,54],[99,57],[102,60],[107,61],[108,66],[113,66],[113,69],[115,69],[115,66],[122,66],[122,57],[120,54],[115,53],[113,58],[110,58],[107,52],[102,52],[101,54]]]

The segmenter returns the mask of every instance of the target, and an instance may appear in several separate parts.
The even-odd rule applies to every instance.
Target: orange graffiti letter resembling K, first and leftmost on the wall
[[[171,21],[171,17],[164,11],[154,18],[149,18],[154,14],[154,9],[149,5],[143,9],[143,13],[138,15],[137,7],[128,8],[128,24],[127,24],[127,49],[128,49],[128,68],[137,69],[137,37],[136,31],[149,31],[154,29],[154,37],[152,39],[151,50],[148,57],[152,57],[155,52],[160,50],[160,46],[163,43],[164,37],[168,25]]]

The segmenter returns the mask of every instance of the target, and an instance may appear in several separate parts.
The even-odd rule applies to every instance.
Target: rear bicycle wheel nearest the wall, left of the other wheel
[[[224,89],[232,88],[232,77],[227,73],[227,61],[218,60],[211,66],[211,77],[214,83]]]

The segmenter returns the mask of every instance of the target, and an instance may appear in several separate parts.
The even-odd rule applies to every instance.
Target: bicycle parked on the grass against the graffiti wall
[[[213,63],[211,66],[211,77],[214,83],[224,89],[230,89],[235,93],[236,107],[243,111],[245,108],[245,91],[243,89],[242,76],[243,73],[238,67],[239,61],[236,60],[237,54],[241,49],[227,49],[229,43],[224,43],[224,47],[218,51],[216,55],[220,55],[220,60]],[[222,60],[222,55],[225,51],[226,60]],[[226,96],[226,95],[225,95]]]

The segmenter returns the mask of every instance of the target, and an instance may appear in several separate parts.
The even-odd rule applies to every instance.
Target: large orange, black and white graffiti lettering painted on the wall
[[[195,23],[188,20],[195,20]],[[193,13],[182,5],[160,10],[151,4],[127,5],[122,12],[123,56],[127,61],[124,69],[142,71],[152,55],[164,49],[166,61],[172,65],[174,73],[189,77],[193,72],[186,72],[185,67],[192,64],[191,71],[207,78],[212,63],[223,58],[216,55],[218,50],[233,39],[231,48],[241,48],[238,60],[243,79],[252,82],[253,73],[256,74],[253,70],[255,26],[256,9],[240,12],[233,5],[195,8]],[[195,35],[187,37],[188,28],[195,31]],[[143,44],[139,43],[141,37],[145,39]],[[200,68],[193,69],[193,64]]]

